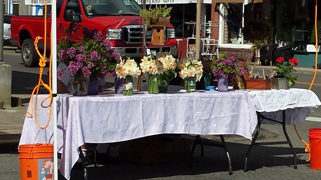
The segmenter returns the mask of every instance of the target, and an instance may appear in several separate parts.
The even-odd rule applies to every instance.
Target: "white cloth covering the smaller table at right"
[[[317,95],[308,89],[271,89],[264,91],[247,91],[256,111],[267,118],[282,122],[282,110],[286,110],[286,124],[298,124],[317,108],[321,102]],[[271,121],[263,121],[272,123]]]

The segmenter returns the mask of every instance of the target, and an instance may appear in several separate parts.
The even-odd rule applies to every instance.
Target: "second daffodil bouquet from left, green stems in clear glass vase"
[[[158,58],[153,59],[151,56],[144,56],[140,63],[143,73],[148,75],[148,93],[159,93],[159,75],[163,74],[163,64]]]

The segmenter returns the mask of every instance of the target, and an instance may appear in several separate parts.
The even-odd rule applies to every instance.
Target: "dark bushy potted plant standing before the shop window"
[[[259,58],[261,47],[271,41],[273,37],[273,29],[273,24],[265,20],[256,20],[244,23],[244,28],[242,28],[244,40],[248,40],[253,43],[251,50],[256,53],[256,58]]]

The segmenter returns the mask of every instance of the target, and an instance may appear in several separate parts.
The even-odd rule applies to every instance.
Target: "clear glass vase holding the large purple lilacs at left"
[[[89,78],[84,78],[82,75],[72,75],[70,78],[74,96],[86,96],[88,84]]]

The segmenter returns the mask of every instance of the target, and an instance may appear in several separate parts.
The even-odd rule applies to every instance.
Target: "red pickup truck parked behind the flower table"
[[[57,43],[65,35],[64,28],[70,23],[78,23],[88,29],[98,29],[121,55],[140,58],[141,18],[140,6],[134,0],[57,0]],[[50,34],[51,15],[48,15],[47,35]],[[121,20],[124,21],[118,26]],[[151,29],[147,29],[146,46],[151,51],[178,54],[175,30],[171,25],[165,31],[164,45],[151,44]],[[26,67],[38,65],[39,56],[33,42],[37,36],[44,36],[43,16],[13,16],[11,19],[11,41],[21,48],[22,62]],[[39,49],[43,50],[43,42]],[[49,39],[47,39],[49,43]]]

